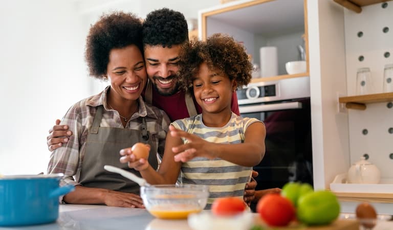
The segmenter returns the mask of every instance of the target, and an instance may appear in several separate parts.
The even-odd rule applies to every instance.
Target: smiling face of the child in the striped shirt
[[[199,72],[193,80],[194,96],[203,112],[219,113],[231,111],[234,80],[229,80],[225,73],[210,70],[205,62],[199,66]]]

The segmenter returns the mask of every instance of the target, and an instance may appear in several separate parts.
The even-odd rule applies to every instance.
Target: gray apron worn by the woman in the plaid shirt
[[[102,111],[103,106],[98,106],[86,139],[79,182],[84,187],[139,194],[140,187],[137,183],[117,173],[104,170],[104,165],[116,166],[141,176],[138,171],[128,168],[127,164],[120,163],[119,151],[142,142],[150,145],[148,161],[154,169],[157,169],[157,147],[151,141],[150,133],[146,129],[146,120],[144,117],[138,118],[141,120],[140,130],[100,127]]]

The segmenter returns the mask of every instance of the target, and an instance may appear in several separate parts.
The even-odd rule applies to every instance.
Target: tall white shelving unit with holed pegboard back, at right
[[[383,178],[392,178],[393,109],[386,102],[391,95],[378,95],[381,102],[367,104],[366,110],[346,110],[338,101],[354,95],[359,67],[370,67],[375,84],[382,84],[383,65],[393,62],[386,55],[393,51],[392,33],[384,32],[385,27],[393,28],[393,2],[365,6],[361,13],[333,0],[308,1],[307,8],[314,186],[329,189],[334,177],[347,172],[364,154],[380,168]],[[393,214],[391,192],[337,195],[343,212],[354,212],[360,201],[369,201],[378,213]]]

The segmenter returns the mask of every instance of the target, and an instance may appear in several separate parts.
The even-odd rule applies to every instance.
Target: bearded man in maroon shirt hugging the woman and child
[[[143,22],[143,49],[149,82],[144,98],[147,103],[164,110],[171,121],[202,112],[195,99],[179,89],[178,61],[185,42],[188,42],[188,28],[182,13],[163,8],[146,16]],[[239,114],[236,94],[233,94],[231,108]],[[67,143],[67,136],[72,135],[68,127],[58,125],[59,122],[56,121],[47,137],[50,151]],[[246,185],[246,202],[254,199],[255,187],[255,180]]]

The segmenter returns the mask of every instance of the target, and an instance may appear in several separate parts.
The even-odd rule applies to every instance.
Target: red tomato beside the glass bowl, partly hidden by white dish
[[[232,216],[243,212],[246,209],[243,200],[237,197],[217,198],[211,205],[211,211],[218,216]]]

